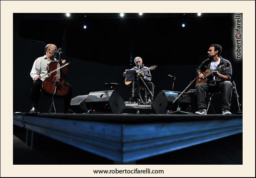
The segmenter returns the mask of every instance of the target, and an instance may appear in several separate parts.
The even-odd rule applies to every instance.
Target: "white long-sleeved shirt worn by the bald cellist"
[[[54,58],[54,61],[58,62],[57,59]],[[30,72],[30,76],[32,77],[33,80],[35,80],[35,76],[37,75],[44,75],[48,73],[48,65],[51,61],[49,61],[46,57],[46,55],[44,55],[43,57],[38,57],[37,59],[35,59],[35,62],[33,64],[33,67],[31,69]],[[46,79],[46,77],[42,77],[41,80],[44,81]]]

